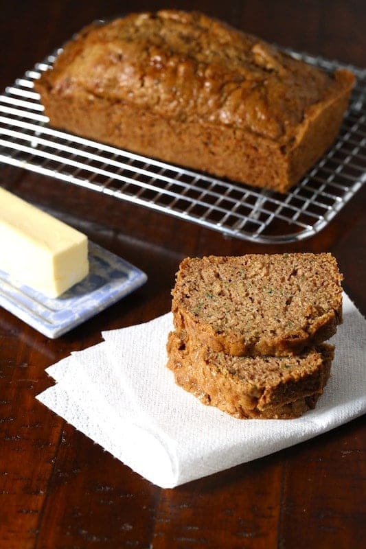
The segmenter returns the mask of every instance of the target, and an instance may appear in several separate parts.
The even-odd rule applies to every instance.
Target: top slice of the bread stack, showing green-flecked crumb
[[[186,258],[174,327],[229,355],[297,355],[335,334],[342,279],[330,253]]]

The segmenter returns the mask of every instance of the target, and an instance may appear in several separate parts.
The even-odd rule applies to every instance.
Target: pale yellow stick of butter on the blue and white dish
[[[0,269],[58,297],[89,272],[87,236],[0,187]]]

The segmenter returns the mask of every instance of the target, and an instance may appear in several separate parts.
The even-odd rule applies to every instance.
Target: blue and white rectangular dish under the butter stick
[[[0,305],[49,338],[58,338],[143,285],[148,277],[89,242],[89,275],[57,299],[15,283],[0,270]]]

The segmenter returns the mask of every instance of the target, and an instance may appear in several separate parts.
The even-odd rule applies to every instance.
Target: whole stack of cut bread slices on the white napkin
[[[187,258],[172,291],[168,367],[204,404],[238,418],[290,419],[314,408],[342,318],[329,253]]]

